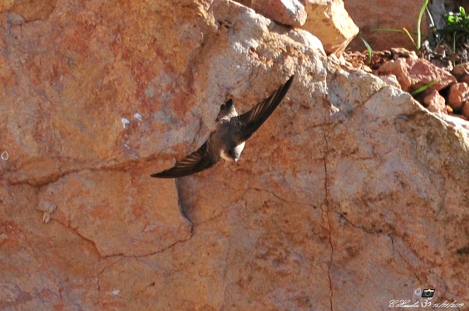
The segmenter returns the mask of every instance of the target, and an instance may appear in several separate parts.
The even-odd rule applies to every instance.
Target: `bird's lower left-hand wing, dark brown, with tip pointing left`
[[[207,149],[208,143],[205,142],[197,151],[187,155],[173,167],[151,176],[156,178],[177,178],[198,173],[206,168],[212,167],[218,161],[208,154]]]

